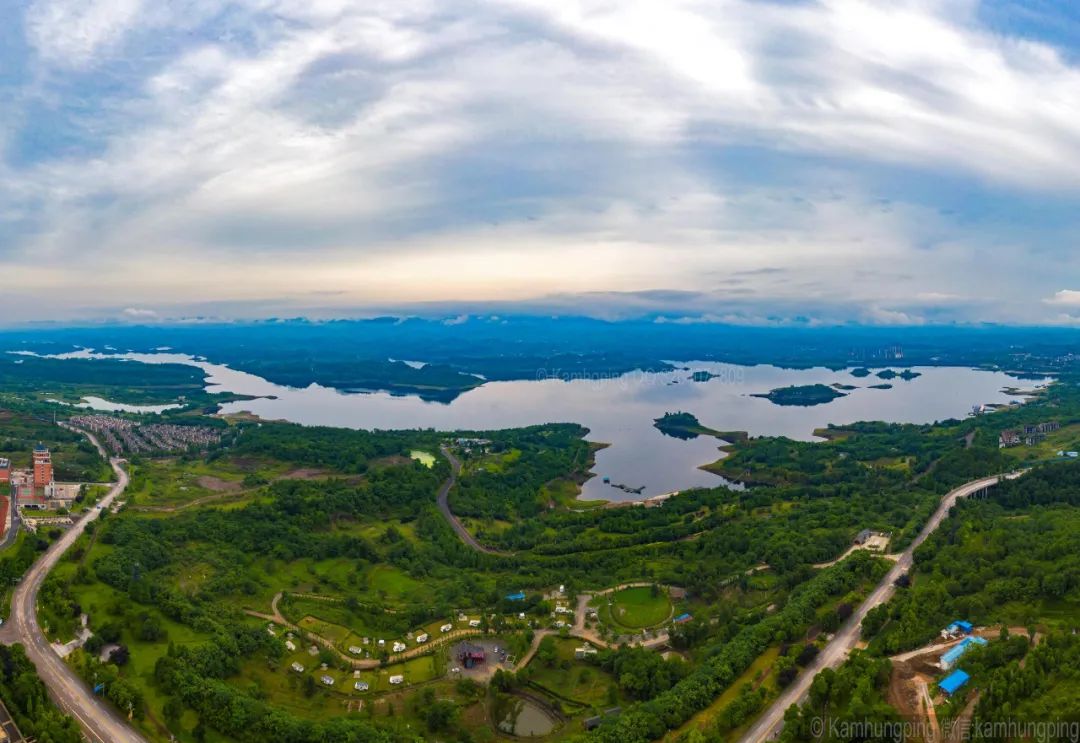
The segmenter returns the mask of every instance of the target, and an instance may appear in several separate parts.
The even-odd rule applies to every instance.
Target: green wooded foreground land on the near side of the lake
[[[113,400],[122,384],[156,404],[176,394],[159,381],[68,384]],[[1023,406],[827,427],[815,442],[665,414],[658,429],[730,442],[708,469],[748,487],[656,508],[577,501],[600,445],[575,424],[354,431],[213,405],[96,416],[44,392],[0,390],[0,456],[25,468],[42,445],[57,479],[84,487],[0,551],[0,613],[63,535],[48,519],[89,517],[37,618],[67,666],[154,743],[734,742],[809,673],[946,492],[1020,468],[1030,471],[959,501],[915,551],[863,620],[863,644],[818,674],[780,740],[816,740],[823,713],[1037,720],[1078,698],[1071,376]],[[58,410],[77,430],[54,423]],[[80,427],[126,460],[116,511],[97,508],[111,471]],[[999,447],[1025,427],[1045,433]],[[885,546],[858,549],[864,532]],[[932,686],[931,707],[905,701],[921,693],[913,679],[942,680],[941,633],[960,619],[986,640],[963,657],[972,680],[951,695]],[[28,654],[0,647],[9,712],[24,735],[75,743],[77,721],[49,702]]]

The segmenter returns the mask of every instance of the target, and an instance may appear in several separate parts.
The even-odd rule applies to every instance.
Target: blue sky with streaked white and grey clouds
[[[0,324],[1080,324],[1070,0],[0,17]]]

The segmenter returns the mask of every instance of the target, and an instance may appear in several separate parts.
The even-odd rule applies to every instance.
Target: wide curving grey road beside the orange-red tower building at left
[[[105,454],[93,435],[84,431],[80,433],[85,434],[97,450]],[[120,465],[120,460],[110,459],[109,464],[117,473],[117,483],[99,501],[103,509],[109,508],[127,487],[127,473]],[[86,528],[86,524],[97,518],[97,508],[87,511],[23,577],[11,599],[11,617],[0,629],[0,641],[8,645],[22,643],[26,646],[26,654],[37,666],[38,675],[49,688],[50,695],[60,710],[78,720],[91,743],[146,743],[146,739],[136,733],[105,701],[94,697],[82,679],[56,654],[42,634],[35,611],[38,590],[45,576]]]

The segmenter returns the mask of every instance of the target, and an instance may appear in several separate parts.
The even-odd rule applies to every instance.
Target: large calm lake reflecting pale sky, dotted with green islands
[[[95,356],[89,352],[66,355]],[[454,431],[545,422],[580,423],[590,430],[590,441],[610,444],[597,454],[594,468],[597,476],[585,483],[581,497],[607,500],[630,500],[726,484],[720,477],[698,469],[721,456],[717,448],[719,442],[711,436],[680,441],[660,433],[652,421],[666,411],[692,413],[702,424],[720,431],[810,441],[815,428],[828,423],[860,420],[924,423],[963,418],[972,406],[1018,400],[1003,391],[1007,387],[1032,387],[1032,382],[1023,382],[1005,374],[960,367],[915,367],[921,374],[918,378],[910,381],[892,379],[889,380],[892,389],[875,390],[868,386],[882,383],[881,379],[875,376],[859,379],[850,370],[679,362],[688,370],[631,373],[615,378],[571,381],[488,382],[445,404],[384,392],[345,393],[318,384],[306,389],[286,388],[220,364],[174,353],[123,354],[122,357],[199,366],[208,375],[211,391],[274,397],[229,403],[222,406],[222,413],[247,410],[267,419],[311,425]],[[691,372],[698,370],[710,372],[716,377],[704,382],[691,381]],[[788,384],[834,382],[854,384],[859,389],[813,407],[779,406],[751,396]],[[644,489],[640,496],[627,495],[605,484],[603,477],[609,477],[613,484]]]

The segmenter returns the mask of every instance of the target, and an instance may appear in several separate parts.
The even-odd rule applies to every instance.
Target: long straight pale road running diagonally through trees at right
[[[1022,473],[1014,472],[1012,474],[1005,475],[1010,479],[1018,477]],[[843,624],[842,627],[836,633],[828,645],[818,654],[818,658],[804,668],[802,673],[787,687],[783,693],[777,699],[775,702],[765,712],[764,715],[754,724],[754,726],[746,731],[746,734],[742,737],[741,743],[761,743],[772,738],[775,733],[780,731],[781,726],[784,721],[784,713],[787,707],[799,702],[806,697],[807,692],[810,690],[810,685],[813,683],[813,677],[818,675],[819,672],[825,668],[835,668],[840,665],[843,660],[851,652],[852,648],[855,647],[855,643],[859,641],[859,631],[860,625],[863,622],[863,618],[866,613],[876,606],[885,604],[891,597],[895,591],[893,582],[900,578],[903,573],[907,572],[913,563],[912,555],[915,550],[926,541],[927,537],[934,532],[934,530],[941,526],[942,522],[948,515],[949,510],[956,505],[956,501],[960,498],[967,498],[973,492],[977,492],[987,487],[997,485],[1000,479],[999,475],[993,477],[983,477],[982,479],[972,481],[966,485],[961,485],[955,490],[949,491],[942,502],[937,505],[937,510],[927,522],[926,526],[922,527],[922,531],[919,536],[915,538],[910,546],[908,546],[904,552],[900,554],[896,559],[896,564],[881,580],[874,592],[863,602],[859,609],[851,616],[851,618]]]

